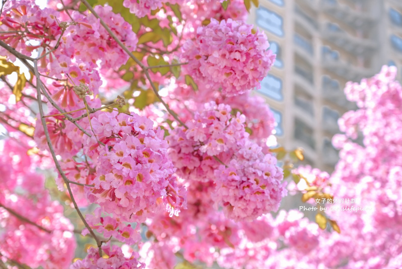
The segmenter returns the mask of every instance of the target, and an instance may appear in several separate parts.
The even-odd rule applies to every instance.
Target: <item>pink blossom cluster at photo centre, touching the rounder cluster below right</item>
[[[201,113],[186,122],[188,129],[176,128],[167,137],[169,156],[176,173],[189,180],[209,181],[219,163],[214,155],[227,160],[239,141],[248,137],[244,130],[244,115],[230,114],[225,104],[206,103]]]

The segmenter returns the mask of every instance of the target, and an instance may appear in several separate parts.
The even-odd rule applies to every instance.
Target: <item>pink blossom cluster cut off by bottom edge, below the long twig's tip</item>
[[[105,244],[102,250],[106,257],[99,257],[98,248],[90,247],[88,255],[83,260],[78,260],[70,266],[70,269],[141,269],[145,268],[145,264],[138,261],[139,255],[133,252],[131,257],[127,258],[123,255],[123,251],[119,246]]]

